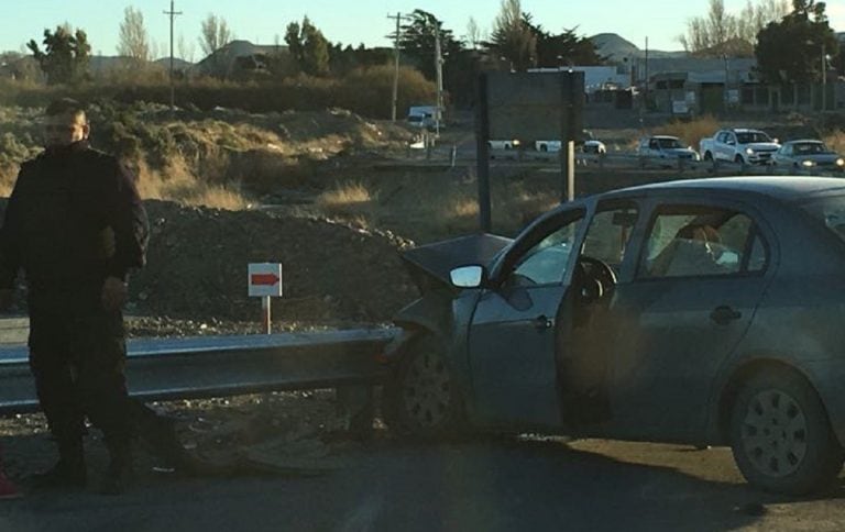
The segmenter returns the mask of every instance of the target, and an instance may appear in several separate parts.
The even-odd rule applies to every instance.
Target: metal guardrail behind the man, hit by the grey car
[[[130,340],[129,392],[150,401],[376,384],[385,375],[377,355],[397,331]],[[0,348],[0,413],[34,410],[26,348]]]

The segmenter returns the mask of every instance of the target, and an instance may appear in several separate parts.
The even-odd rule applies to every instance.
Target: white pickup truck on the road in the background
[[[704,160],[731,160],[743,165],[768,165],[780,148],[777,138],[760,130],[720,130],[710,138],[702,138],[699,153]]]

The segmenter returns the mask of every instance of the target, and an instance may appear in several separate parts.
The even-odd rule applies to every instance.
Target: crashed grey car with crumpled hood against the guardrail
[[[841,179],[632,187],[403,257],[422,296],[385,353],[399,432],[725,444],[784,494],[842,469]]]

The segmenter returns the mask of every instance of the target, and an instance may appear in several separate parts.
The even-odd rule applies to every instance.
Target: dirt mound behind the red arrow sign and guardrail
[[[409,242],[326,220],[257,211],[145,203],[147,266],[130,284],[129,310],[206,320],[256,320],[246,265],[283,264],[284,297],[273,320],[385,322],[416,297],[397,250]]]

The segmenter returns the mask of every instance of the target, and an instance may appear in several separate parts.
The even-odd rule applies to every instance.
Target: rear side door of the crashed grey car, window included
[[[615,332],[612,435],[684,441],[703,434],[714,379],[770,279],[761,228],[736,204],[656,209],[634,276],[617,285],[603,325]]]

